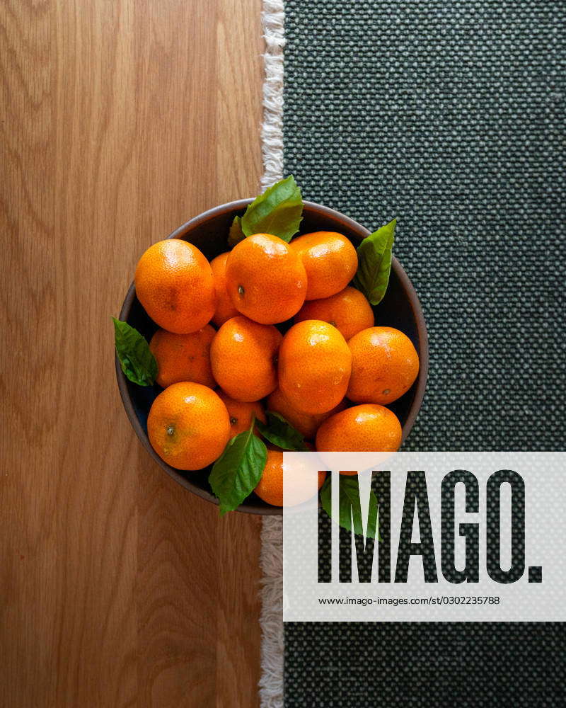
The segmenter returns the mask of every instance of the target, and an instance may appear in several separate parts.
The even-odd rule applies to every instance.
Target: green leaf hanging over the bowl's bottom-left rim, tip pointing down
[[[220,515],[236,509],[258,486],[267,461],[265,443],[249,430],[229,440],[222,455],[214,462],[208,478],[220,501]]]

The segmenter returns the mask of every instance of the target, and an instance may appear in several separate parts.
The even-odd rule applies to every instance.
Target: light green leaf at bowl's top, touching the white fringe
[[[291,241],[299,231],[303,213],[303,198],[294,176],[275,183],[248,205],[241,219],[246,236],[273,234]]]

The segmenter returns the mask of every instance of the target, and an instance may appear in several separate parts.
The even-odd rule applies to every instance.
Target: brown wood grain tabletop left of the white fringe
[[[0,699],[258,705],[260,519],[144,452],[110,315],[152,242],[258,191],[260,0],[0,6]]]

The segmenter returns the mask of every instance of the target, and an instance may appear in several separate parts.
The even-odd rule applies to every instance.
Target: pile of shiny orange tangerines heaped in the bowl
[[[415,381],[418,355],[404,333],[374,326],[349,285],[356,270],[356,249],[333,232],[290,243],[255,234],[210,263],[186,241],[151,246],[135,285],[162,328],[149,345],[164,389],[148,418],[157,454],[177,469],[207,467],[266,410],[316,450],[398,450],[386,406]],[[282,474],[281,450],[269,449],[255,493],[282,506]]]

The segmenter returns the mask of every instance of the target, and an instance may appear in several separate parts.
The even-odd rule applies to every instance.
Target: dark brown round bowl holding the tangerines
[[[194,219],[190,219],[186,224],[176,229],[168,239],[183,239],[195,244],[207,258],[212,259],[219,253],[226,251],[226,238],[233,217],[243,214],[251,199],[241,199],[236,202],[229,202],[219,207],[215,207]],[[313,202],[305,202],[303,221],[301,222],[301,232],[307,234],[313,231],[335,231],[345,234],[354,244],[362,241],[369,232],[357,222],[348,217],[335,212],[328,207],[322,207]],[[391,278],[386,296],[374,307],[376,323],[380,325],[392,326],[405,332],[415,345],[420,357],[420,373],[412,388],[398,401],[389,406],[397,414],[403,426],[403,440],[407,437],[415,422],[417,413],[424,396],[424,387],[427,381],[429,368],[429,350],[427,328],[424,324],[420,302],[412,287],[412,283],[405,273],[399,261],[393,258],[391,268]],[[136,297],[134,284],[129,290],[120,310],[120,319],[127,321],[149,339],[156,331],[156,324],[149,319]],[[218,500],[210,491],[208,476],[210,468],[200,470],[200,472],[180,472],[173,469],[161,457],[157,455],[151,447],[147,437],[147,415],[152,402],[161,392],[160,387],[141,387],[132,384],[127,380],[120,368],[120,362],[116,358],[116,375],[122,402],[126,409],[127,416],[138,438],[146,448],[147,452],[154,458],[160,467],[198,496],[202,496],[207,501],[217,504]],[[281,514],[282,510],[275,506],[269,506],[260,498],[251,494],[238,511],[246,511],[252,514]]]

